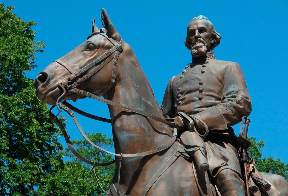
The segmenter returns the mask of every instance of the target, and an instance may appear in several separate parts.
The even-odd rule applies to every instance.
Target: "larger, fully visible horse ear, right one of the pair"
[[[116,31],[114,25],[111,22],[110,17],[108,16],[107,11],[104,8],[101,9],[101,21],[103,27],[107,30],[108,37],[111,37],[113,40],[120,41],[121,37],[119,33]]]

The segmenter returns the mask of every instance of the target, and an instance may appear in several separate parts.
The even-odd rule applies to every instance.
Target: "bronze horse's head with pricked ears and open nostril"
[[[101,10],[101,19],[104,28],[97,28],[94,18],[92,34],[87,40],[47,66],[36,77],[33,82],[36,95],[43,102],[56,104],[57,98],[62,93],[59,84],[64,84],[66,87],[74,83],[77,88],[100,96],[115,85],[117,66],[115,56],[119,56],[122,52],[124,42],[105,9]],[[85,76],[89,77],[86,79]],[[63,98],[76,100],[83,97],[67,92]]]

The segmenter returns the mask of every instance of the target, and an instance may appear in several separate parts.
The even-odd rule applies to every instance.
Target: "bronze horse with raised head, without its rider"
[[[40,72],[34,81],[38,98],[60,111],[69,111],[61,100],[91,97],[108,104],[119,158],[106,195],[219,195],[207,173],[182,156],[177,126],[165,120],[131,46],[121,39],[103,8],[101,20],[104,28],[97,28],[94,18],[87,40]],[[64,136],[73,153],[94,168],[95,163],[77,154]],[[281,195],[288,195],[283,177],[262,174]]]

